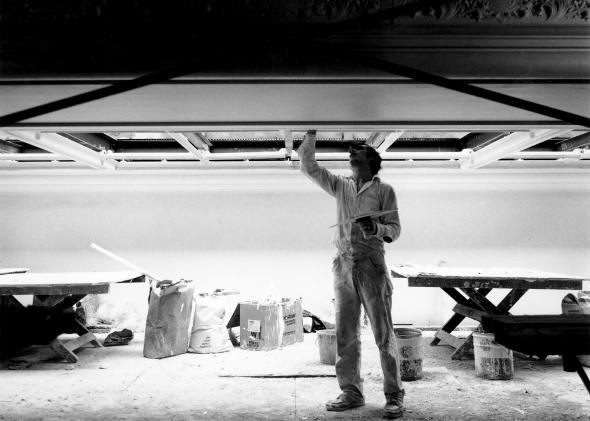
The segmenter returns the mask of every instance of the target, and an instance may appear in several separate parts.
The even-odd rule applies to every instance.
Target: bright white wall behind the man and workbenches
[[[386,247],[390,263],[590,277],[587,172],[384,170],[382,178],[396,188],[401,210],[402,236]],[[95,242],[164,277],[193,279],[199,289],[256,297],[274,288],[326,314],[334,219],[333,199],[294,170],[6,172],[0,267],[125,269],[92,250]],[[394,286],[397,323],[440,325],[451,315],[442,291],[399,279]],[[559,313],[566,292],[529,291],[514,313]]]

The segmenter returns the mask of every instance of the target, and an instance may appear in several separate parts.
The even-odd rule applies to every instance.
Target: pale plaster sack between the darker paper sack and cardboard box
[[[218,294],[195,294],[189,352],[211,354],[232,349],[224,320],[226,303]]]

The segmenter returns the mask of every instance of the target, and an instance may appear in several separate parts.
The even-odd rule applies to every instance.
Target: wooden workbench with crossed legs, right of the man
[[[431,345],[441,341],[455,348],[453,359],[472,358],[473,339],[459,339],[453,330],[465,317],[481,322],[485,315],[507,315],[529,289],[580,290],[588,279],[520,268],[469,268],[417,265],[393,265],[394,278],[407,278],[410,287],[441,288],[457,303],[455,313],[436,332]],[[509,292],[497,304],[486,298],[493,289]]]

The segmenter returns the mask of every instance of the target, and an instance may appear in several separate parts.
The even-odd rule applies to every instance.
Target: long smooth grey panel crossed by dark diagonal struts
[[[96,86],[99,87],[99,86]],[[580,84],[505,84],[486,88],[509,93],[565,111],[588,115],[590,87]],[[0,114],[92,89],[92,86],[0,86]],[[173,127],[298,126],[433,127],[445,122],[478,125],[479,121],[544,122],[551,119],[492,101],[422,84],[160,84],[78,105],[27,122],[88,124],[117,123]],[[424,123],[426,122],[426,123]],[[504,123],[507,122],[507,125]],[[217,125],[217,126],[216,126]],[[252,125],[252,126],[249,126]],[[404,127],[399,127],[403,125]],[[571,125],[570,125],[571,126]],[[127,128],[129,130],[129,128]]]

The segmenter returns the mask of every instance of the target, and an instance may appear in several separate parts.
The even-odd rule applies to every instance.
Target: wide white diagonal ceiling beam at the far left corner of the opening
[[[31,131],[6,132],[14,139],[36,146],[48,152],[64,155],[73,161],[96,169],[114,170],[117,166],[106,158],[105,154],[94,152],[73,140],[56,133],[39,133]]]

